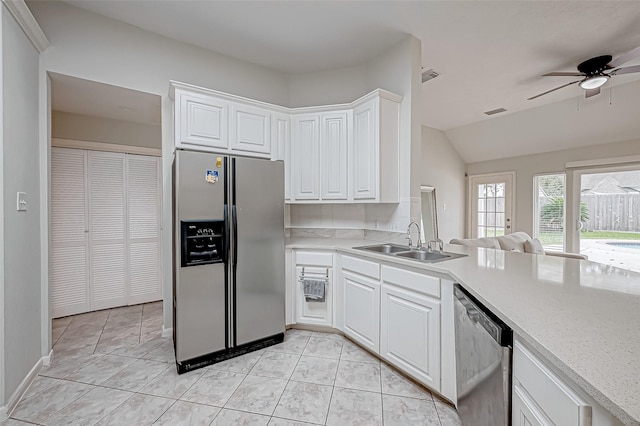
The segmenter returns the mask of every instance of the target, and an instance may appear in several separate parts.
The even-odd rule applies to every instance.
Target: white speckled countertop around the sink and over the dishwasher
[[[370,240],[292,238],[288,248],[336,249],[443,273],[624,424],[640,424],[640,274],[556,256],[446,245],[468,257],[422,263],[354,250]]]

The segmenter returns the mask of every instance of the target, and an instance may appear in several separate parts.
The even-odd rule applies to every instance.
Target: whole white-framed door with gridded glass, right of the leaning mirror
[[[514,173],[471,176],[470,238],[497,237],[513,229]]]

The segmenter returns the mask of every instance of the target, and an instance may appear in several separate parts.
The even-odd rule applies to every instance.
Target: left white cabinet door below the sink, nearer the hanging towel
[[[370,350],[380,351],[380,282],[342,270],[343,331]]]

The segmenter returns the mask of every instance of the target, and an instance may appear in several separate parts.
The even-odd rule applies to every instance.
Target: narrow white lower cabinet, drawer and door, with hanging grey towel
[[[333,327],[333,252],[296,251],[295,262],[296,323]],[[323,302],[306,300],[305,277],[326,280]]]

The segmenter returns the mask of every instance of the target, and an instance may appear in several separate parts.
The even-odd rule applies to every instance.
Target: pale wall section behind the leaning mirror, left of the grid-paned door
[[[422,126],[420,169],[421,184],[436,188],[440,239],[463,238],[465,164],[443,131]]]

